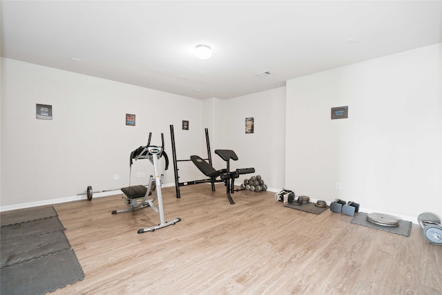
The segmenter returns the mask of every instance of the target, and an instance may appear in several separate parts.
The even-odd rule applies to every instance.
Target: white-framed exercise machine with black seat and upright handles
[[[135,185],[131,187],[122,188],[122,192],[124,195],[122,198],[124,199],[124,203],[127,205],[127,209],[122,210],[114,210],[113,214],[135,211],[138,209],[151,207],[153,211],[157,212],[160,215],[160,224],[155,225],[153,227],[147,227],[144,229],[138,229],[138,234],[142,234],[146,231],[155,231],[155,229],[161,229],[163,227],[167,227],[169,225],[175,225],[176,222],[181,221],[181,218],[175,218],[169,222],[164,220],[164,208],[163,208],[163,200],[161,193],[161,186],[163,182],[163,174],[160,174],[160,168],[158,164],[158,159],[164,156],[164,160],[166,161],[165,170],[168,169],[169,166],[169,158],[167,158],[166,153],[164,152],[164,135],[161,133],[161,146],[151,146],[151,137],[152,133],[149,133],[149,138],[146,146],[140,146],[138,149],[131,153],[130,163],[131,169],[133,160],[139,159],[148,159],[153,164],[153,169],[155,172],[155,179],[153,175],[149,178],[148,187],[144,185]],[[152,191],[155,189],[155,195],[153,198],[149,199],[149,196],[152,195]],[[153,202],[158,199],[158,208],[155,207]]]

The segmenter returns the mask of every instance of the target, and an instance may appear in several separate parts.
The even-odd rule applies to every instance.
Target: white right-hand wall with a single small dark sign
[[[289,80],[285,185],[441,216],[441,100],[441,44]],[[348,119],[331,120],[335,106],[349,106]]]

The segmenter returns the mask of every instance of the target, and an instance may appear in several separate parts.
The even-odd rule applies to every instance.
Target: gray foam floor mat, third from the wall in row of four
[[[1,244],[1,268],[70,249],[64,231],[53,231]]]

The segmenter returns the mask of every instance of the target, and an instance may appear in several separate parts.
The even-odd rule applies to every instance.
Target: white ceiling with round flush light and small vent
[[[2,57],[198,99],[440,42],[442,1],[1,1]]]

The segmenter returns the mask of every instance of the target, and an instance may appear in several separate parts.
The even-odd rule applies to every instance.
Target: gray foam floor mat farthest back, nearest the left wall
[[[4,225],[13,225],[15,223],[48,218],[52,216],[57,216],[57,212],[52,206],[18,209],[1,212],[0,224],[3,227]]]

